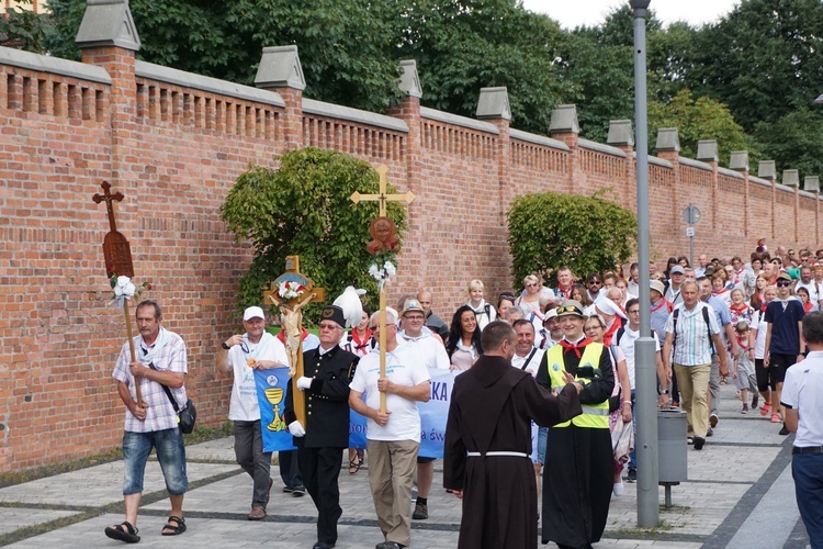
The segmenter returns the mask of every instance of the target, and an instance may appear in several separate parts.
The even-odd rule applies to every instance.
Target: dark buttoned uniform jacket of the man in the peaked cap
[[[303,393],[306,404],[304,437],[294,437],[294,445],[305,448],[349,446],[349,383],[360,358],[335,346],[320,356],[319,347],[303,354],[303,373],[313,378],[312,386]],[[296,419],[292,400],[295,380],[289,382],[285,396],[285,424]]]

